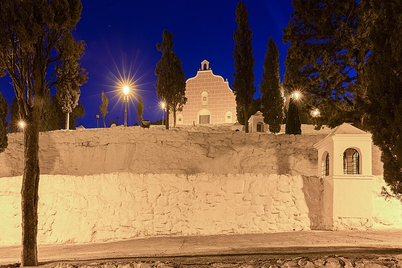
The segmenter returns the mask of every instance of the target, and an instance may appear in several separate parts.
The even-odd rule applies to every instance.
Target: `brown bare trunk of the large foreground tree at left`
[[[38,266],[39,125],[43,97],[35,95],[24,129],[24,173],[21,189],[22,250],[21,266]]]

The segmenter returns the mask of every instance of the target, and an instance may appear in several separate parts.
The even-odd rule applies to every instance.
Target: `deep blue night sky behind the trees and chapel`
[[[81,20],[74,36],[86,42],[82,66],[89,79],[81,86],[85,116],[78,125],[96,127],[96,113],[101,104],[100,92],[110,99],[109,121],[119,116],[123,123],[122,90],[118,88],[119,73],[134,74],[134,91],[131,92],[128,125],[136,120],[135,100],[141,94],[144,101],[144,119],[161,119],[153,83],[156,63],[161,52],[156,43],[162,42],[164,29],[173,33],[173,50],[181,59],[187,78],[195,76],[200,63],[207,59],[215,74],[233,82],[233,32],[236,30],[236,0],[205,1],[135,1],[135,0],[82,0]],[[283,79],[284,60],[288,47],[282,42],[282,29],[287,25],[293,9],[291,0],[244,0],[253,31],[254,72],[257,87],[263,72],[266,44],[270,36],[280,53],[280,72]],[[9,78],[0,78],[0,90],[9,104],[14,91]],[[52,93],[55,94],[54,89]],[[78,126],[77,125],[77,126]],[[103,124],[99,121],[99,126]]]

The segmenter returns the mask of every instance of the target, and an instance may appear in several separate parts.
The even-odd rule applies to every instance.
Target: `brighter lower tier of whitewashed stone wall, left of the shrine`
[[[302,175],[41,175],[38,243],[317,229],[321,189]],[[21,242],[20,191],[21,176],[0,178],[0,245]]]

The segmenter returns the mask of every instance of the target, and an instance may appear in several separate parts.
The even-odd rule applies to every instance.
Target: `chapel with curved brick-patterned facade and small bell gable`
[[[228,79],[215,75],[207,60],[201,62],[197,74],[187,79],[187,103],[176,115],[176,125],[233,124],[237,121],[235,95]],[[169,117],[173,124],[173,116]]]

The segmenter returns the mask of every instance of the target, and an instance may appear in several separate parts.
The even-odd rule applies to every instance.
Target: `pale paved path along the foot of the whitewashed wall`
[[[20,261],[21,246],[0,246],[0,264]],[[292,258],[342,255],[402,258],[402,230],[298,231],[211,236],[159,236],[116,242],[39,245],[40,262],[99,259]],[[399,255],[399,256],[398,256]]]

